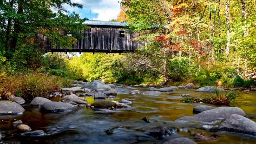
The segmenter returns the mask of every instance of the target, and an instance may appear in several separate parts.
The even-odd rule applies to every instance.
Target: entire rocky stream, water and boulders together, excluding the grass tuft
[[[0,101],[0,141],[33,144],[255,144],[256,93],[219,107],[178,101],[204,95],[183,87],[74,81],[50,99]],[[225,91],[225,90],[221,90]],[[243,91],[241,91],[243,92]],[[16,101],[15,101],[16,100]],[[23,104],[23,105],[20,105]]]

